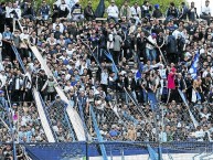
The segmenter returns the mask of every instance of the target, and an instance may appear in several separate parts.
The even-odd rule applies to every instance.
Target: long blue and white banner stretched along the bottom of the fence
[[[160,159],[163,160],[199,160],[212,158],[212,143],[209,142],[164,142],[159,149],[157,142],[105,141],[72,143],[24,145],[31,158],[45,159],[103,159],[102,145],[107,159]]]

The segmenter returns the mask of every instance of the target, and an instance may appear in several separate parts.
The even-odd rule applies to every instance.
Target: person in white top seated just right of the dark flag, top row
[[[116,23],[118,22],[118,7],[115,4],[115,1],[111,0],[111,4],[107,8],[108,20],[113,19]]]

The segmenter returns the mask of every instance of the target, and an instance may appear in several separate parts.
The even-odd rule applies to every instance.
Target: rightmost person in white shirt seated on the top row
[[[210,25],[211,22],[211,8],[210,8],[210,0],[205,0],[205,6],[201,8],[201,19],[207,21],[207,25]]]

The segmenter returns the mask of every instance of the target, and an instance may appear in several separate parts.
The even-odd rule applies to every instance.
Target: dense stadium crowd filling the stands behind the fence
[[[54,88],[58,85],[68,106],[79,113],[82,106],[92,137],[96,134],[90,106],[106,140],[212,141],[210,1],[199,15],[194,2],[180,7],[171,2],[163,14],[149,1],[132,7],[125,1],[118,9],[111,0],[106,14],[106,21],[96,19],[90,1],[84,9],[78,2],[71,8],[64,0],[53,7],[42,1],[38,10],[30,1],[1,3],[0,97],[11,100],[9,111],[1,104],[1,140],[11,141],[9,115],[17,141],[46,141],[32,103],[36,88],[55,137],[72,141],[67,105],[58,103]],[[29,44],[39,49],[54,77],[46,76]],[[152,100],[158,103],[152,106]]]

